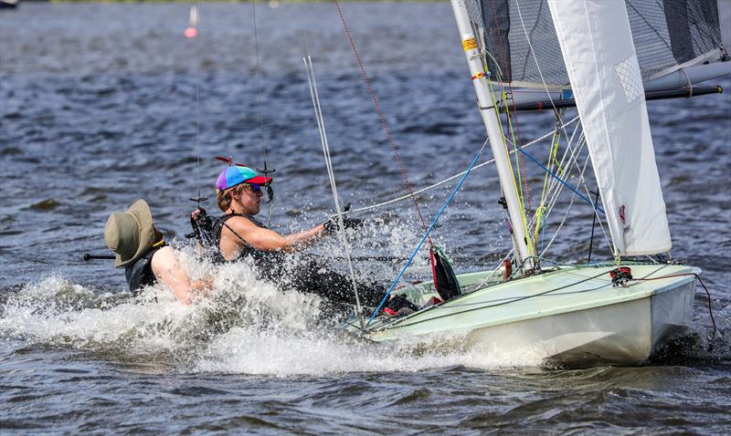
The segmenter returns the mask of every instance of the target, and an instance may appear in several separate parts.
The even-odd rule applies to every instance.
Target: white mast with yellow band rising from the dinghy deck
[[[534,250],[528,244],[528,238],[524,225],[524,211],[518,200],[518,192],[515,186],[513,169],[510,157],[503,140],[503,130],[500,128],[500,120],[497,118],[497,108],[493,103],[490,92],[490,85],[487,82],[489,73],[480,57],[480,47],[471,26],[470,13],[464,0],[450,0],[454,18],[457,20],[457,28],[460,31],[464,55],[467,57],[467,64],[470,67],[472,85],[474,85],[477,102],[482,115],[482,122],[485,124],[487,136],[490,138],[490,147],[493,149],[495,166],[497,167],[500,185],[503,189],[503,196],[507,204],[510,223],[513,227],[513,244],[515,247],[515,261],[518,266],[524,266],[526,270],[533,269],[533,263],[526,259]],[[523,262],[525,264],[523,265]]]

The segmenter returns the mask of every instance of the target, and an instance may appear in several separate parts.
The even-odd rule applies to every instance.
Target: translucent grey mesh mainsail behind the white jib
[[[724,56],[716,0],[623,3],[643,81]],[[514,87],[567,87],[567,68],[547,0],[480,0],[480,8],[493,79]]]

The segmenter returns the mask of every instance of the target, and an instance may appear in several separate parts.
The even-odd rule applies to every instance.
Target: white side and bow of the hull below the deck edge
[[[639,365],[663,337],[690,324],[694,293],[691,282],[625,303],[480,328],[467,340],[563,365]]]

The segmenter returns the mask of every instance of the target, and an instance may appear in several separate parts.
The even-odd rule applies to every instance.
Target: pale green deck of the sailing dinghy
[[[540,275],[486,285],[408,317],[377,319],[369,326],[371,337],[387,340],[400,335],[440,331],[469,332],[537,317],[550,317],[600,306],[616,305],[661,294],[693,282],[698,268],[688,265],[627,265],[634,279],[628,285],[612,284],[609,272],[617,265],[562,266]],[[462,287],[479,285],[489,272],[458,275]],[[664,277],[664,278],[662,278]],[[431,283],[403,290],[411,298],[428,299]]]

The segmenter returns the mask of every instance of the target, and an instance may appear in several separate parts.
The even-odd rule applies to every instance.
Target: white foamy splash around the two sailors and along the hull
[[[393,244],[403,247],[404,241]],[[140,296],[111,294],[52,275],[0,295],[0,340],[103,350],[111,359],[137,359],[141,366],[162,359],[157,363],[182,372],[278,377],[539,362],[468,348],[462,337],[429,345],[351,337],[325,325],[330,320],[323,319],[320,297],[282,292],[278,284],[258,279],[250,263],[214,266],[185,250],[179,259],[193,277],[216,274],[214,288],[191,306],[177,303],[161,286]]]

